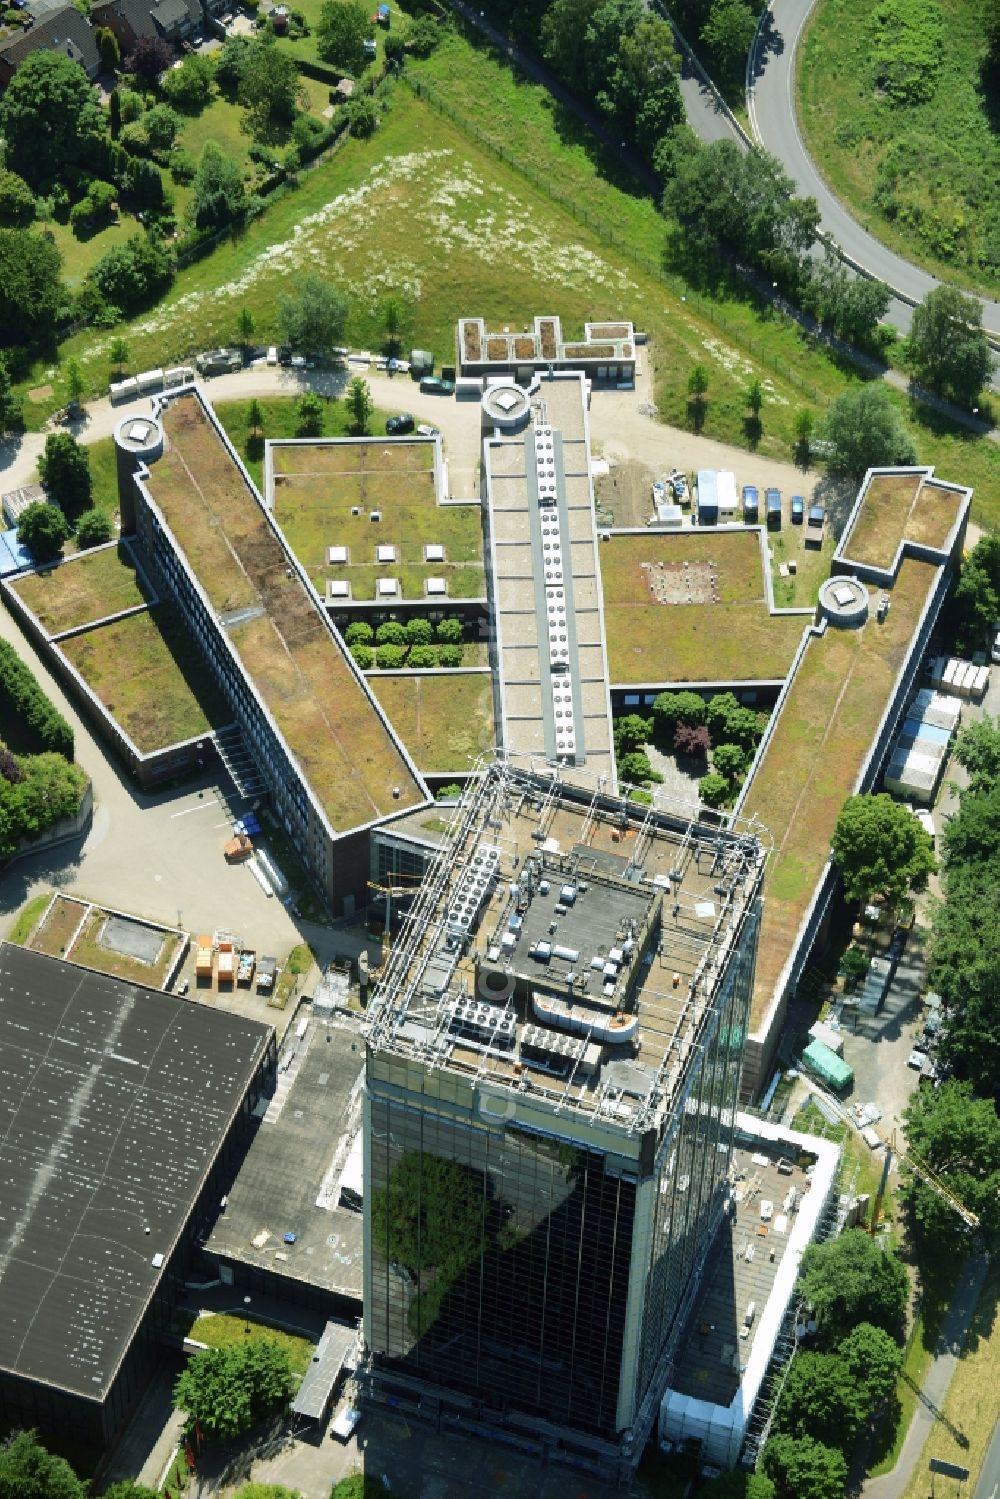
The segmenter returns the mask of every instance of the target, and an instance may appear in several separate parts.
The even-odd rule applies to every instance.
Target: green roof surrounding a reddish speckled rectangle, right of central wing
[[[756,532],[618,535],[601,547],[600,561],[609,673],[616,687],[787,675],[808,621],[769,613]],[[703,570],[706,564],[715,571],[715,603],[652,600],[649,565],[679,577],[685,567]]]

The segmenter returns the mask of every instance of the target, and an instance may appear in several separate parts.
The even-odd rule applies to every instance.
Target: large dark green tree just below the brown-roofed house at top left
[[[28,183],[81,165],[102,132],[100,106],[87,73],[64,52],[30,52],[0,103],[9,162]]]

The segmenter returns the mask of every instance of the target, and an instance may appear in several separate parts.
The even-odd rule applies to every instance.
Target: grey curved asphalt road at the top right
[[[823,229],[853,261],[898,292],[892,321],[909,327],[909,303],[922,301],[939,285],[870,234],[831,192],[799,135],[795,112],[795,54],[816,0],[772,0],[765,12],[747,67],[747,108],[754,138],[777,156],[801,193],[816,198]],[[981,297],[984,328],[1000,339],[1000,303]]]

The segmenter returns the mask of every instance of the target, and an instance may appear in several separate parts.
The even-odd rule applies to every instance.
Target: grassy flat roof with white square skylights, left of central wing
[[[327,579],[343,579],[354,598],[375,598],[379,577],[396,577],[403,598],[424,598],[427,577],[444,577],[451,598],[483,597],[480,507],[438,505],[433,453],[384,439],[273,450],[274,519],[321,597]],[[444,546],[444,562],[424,561],[427,543]],[[348,562],[328,564],[330,546],[346,546]],[[393,547],[390,562],[376,561],[379,546]]]

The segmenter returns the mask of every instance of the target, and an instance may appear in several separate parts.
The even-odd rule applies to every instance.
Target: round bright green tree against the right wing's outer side
[[[937,868],[928,833],[885,791],[844,802],[832,853],[849,901],[882,895],[895,904],[910,890],[922,890]]]

